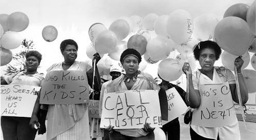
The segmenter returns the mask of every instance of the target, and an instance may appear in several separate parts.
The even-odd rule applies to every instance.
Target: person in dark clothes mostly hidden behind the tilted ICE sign
[[[158,74],[159,76],[159,74]],[[159,84],[164,90],[168,90],[170,88],[175,88],[178,93],[181,95],[183,101],[186,103],[186,92],[179,86],[169,83],[168,81],[165,81],[162,77],[159,76],[159,78],[162,79],[162,83]],[[171,122],[163,125],[162,130],[165,132],[165,134],[168,134],[168,140],[178,140],[180,139],[180,122],[179,117],[173,119]]]

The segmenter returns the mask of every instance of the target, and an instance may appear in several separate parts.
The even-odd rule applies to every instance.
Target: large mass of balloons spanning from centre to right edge
[[[138,15],[120,17],[109,28],[95,23],[88,31],[92,43],[87,46],[87,55],[91,58],[94,52],[98,52],[107,54],[111,61],[119,61],[123,50],[133,48],[140,53],[142,61],[147,62],[141,68],[161,62],[158,74],[166,81],[175,81],[182,73],[180,68],[184,62],[189,62],[192,70],[196,68],[195,45],[200,41],[214,40],[225,50],[223,64],[233,69],[230,61],[243,55],[244,69],[250,61],[248,49],[256,52],[255,5],[255,1],[251,6],[235,4],[227,9],[221,21],[211,13],[193,19],[189,12],[178,9],[169,15],[149,13],[144,18]],[[174,50],[180,54],[171,56]]]

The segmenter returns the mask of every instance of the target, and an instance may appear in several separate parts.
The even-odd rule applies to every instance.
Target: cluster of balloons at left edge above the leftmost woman
[[[23,12],[0,14],[1,66],[11,62],[10,49],[18,48],[22,44],[22,36],[19,32],[25,30],[28,24],[28,16]]]

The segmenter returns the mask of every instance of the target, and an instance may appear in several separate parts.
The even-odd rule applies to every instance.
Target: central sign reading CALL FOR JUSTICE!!
[[[107,93],[103,96],[101,128],[114,129],[162,127],[157,90],[127,90]]]

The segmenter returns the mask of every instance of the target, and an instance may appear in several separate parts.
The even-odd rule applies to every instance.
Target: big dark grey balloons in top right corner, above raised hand
[[[215,41],[223,50],[236,56],[248,51],[255,36],[255,8],[256,1],[251,6],[235,4],[227,9],[214,31]]]

